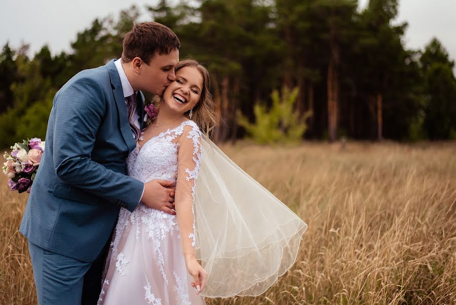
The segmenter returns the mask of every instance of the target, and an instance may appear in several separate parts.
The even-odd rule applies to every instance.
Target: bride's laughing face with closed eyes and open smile
[[[184,67],[176,72],[176,80],[171,82],[163,94],[166,106],[185,113],[195,107],[201,97],[203,76],[195,67]]]

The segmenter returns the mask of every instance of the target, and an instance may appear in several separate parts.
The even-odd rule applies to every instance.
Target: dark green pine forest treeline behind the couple
[[[217,141],[245,136],[245,119],[261,119],[254,109],[273,108],[271,93],[284,88],[297,88],[289,112],[305,124],[303,138],[456,139],[454,61],[436,38],[423,50],[405,48],[398,0],[370,0],[363,10],[353,0],[193,4],[161,1],[146,11],[179,36],[181,58],[191,56],[211,72]],[[123,36],[142,12],[132,6],[116,18],[95,19],[68,52],[52,54],[45,45],[31,57],[26,44],[6,43],[0,147],[44,138],[57,90],[79,71],[119,58]]]

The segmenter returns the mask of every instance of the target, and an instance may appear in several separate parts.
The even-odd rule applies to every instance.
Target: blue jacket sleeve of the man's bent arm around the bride
[[[144,183],[114,172],[91,159],[105,111],[104,93],[94,80],[81,78],[54,100],[54,167],[67,184],[133,211]]]

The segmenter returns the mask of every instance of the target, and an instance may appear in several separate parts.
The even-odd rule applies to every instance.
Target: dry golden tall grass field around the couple
[[[456,143],[239,143],[223,150],[307,224],[263,295],[212,304],[456,304]],[[3,151],[2,151],[3,152]],[[33,304],[28,195],[0,178],[0,304]]]

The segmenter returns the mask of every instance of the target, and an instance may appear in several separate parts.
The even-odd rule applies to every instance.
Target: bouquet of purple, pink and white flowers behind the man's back
[[[39,138],[14,143],[11,153],[5,151],[3,173],[8,176],[11,191],[30,193],[30,188],[37,174],[44,152],[45,141]]]

